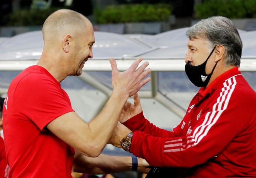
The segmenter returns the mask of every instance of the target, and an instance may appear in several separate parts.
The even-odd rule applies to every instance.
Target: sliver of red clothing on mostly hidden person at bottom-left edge
[[[7,178],[9,166],[6,162],[4,139],[0,137],[0,177]]]

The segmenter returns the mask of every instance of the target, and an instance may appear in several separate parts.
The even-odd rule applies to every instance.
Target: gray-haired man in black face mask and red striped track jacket
[[[136,94],[119,119],[126,127],[118,124],[109,142],[158,166],[148,177],[159,177],[159,167],[170,177],[256,177],[256,93],[238,68],[239,33],[228,18],[214,16],[186,35],[186,74],[201,88],[181,123],[173,131],[151,124]]]

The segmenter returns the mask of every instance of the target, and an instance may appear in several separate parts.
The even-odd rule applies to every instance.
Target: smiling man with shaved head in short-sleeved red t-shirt
[[[85,123],[72,109],[60,82],[69,75],[81,75],[84,64],[93,57],[92,24],[82,14],[62,9],[46,19],[42,33],[41,58],[15,77],[4,101],[9,176],[71,178],[72,168],[92,174],[131,170],[131,157],[101,155],[101,151],[116,127],[124,103],[150,81],[145,78],[151,72],[145,70],[148,62],[139,66],[139,58],[128,70],[119,72],[116,61],[110,58],[112,95],[100,114]],[[133,163],[137,169],[136,161]],[[143,171],[148,165],[138,159],[138,170]]]

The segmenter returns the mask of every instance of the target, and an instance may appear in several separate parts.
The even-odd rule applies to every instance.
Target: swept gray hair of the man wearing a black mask
[[[186,36],[190,39],[203,37],[209,41],[209,48],[221,44],[225,47],[225,64],[240,66],[242,40],[233,22],[222,16],[203,19],[190,27]]]

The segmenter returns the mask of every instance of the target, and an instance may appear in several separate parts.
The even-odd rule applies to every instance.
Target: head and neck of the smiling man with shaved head
[[[95,42],[91,22],[69,9],[53,12],[43,25],[44,47],[37,63],[59,82],[68,75],[81,75]]]

